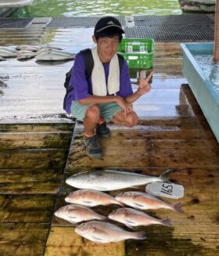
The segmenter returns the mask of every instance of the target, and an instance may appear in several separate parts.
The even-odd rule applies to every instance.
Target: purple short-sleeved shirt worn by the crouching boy
[[[106,86],[109,75],[110,64],[103,64],[103,68],[106,76]],[[82,100],[92,95],[92,79],[86,79],[85,75],[85,64],[82,53],[77,53],[74,60],[74,68],[70,77],[70,88],[74,88],[66,96],[65,99],[65,111],[70,114],[70,106],[72,101]],[[127,62],[124,60],[121,71],[120,71],[120,90],[117,95],[120,97],[126,97],[131,95],[133,90],[131,88],[131,80],[127,67]]]

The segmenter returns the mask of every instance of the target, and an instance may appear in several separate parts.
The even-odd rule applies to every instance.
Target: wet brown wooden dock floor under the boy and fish
[[[75,29],[41,31],[40,26],[35,24],[35,31],[1,31],[1,45],[63,42],[70,47],[72,41],[67,45],[65,38]],[[71,63],[0,63],[0,76],[9,76],[7,86],[0,88],[0,255],[219,254],[219,145],[181,63],[179,43],[156,43],[152,90],[135,104],[140,122],[132,129],[110,125],[112,137],[100,141],[104,159],[88,158],[83,127],[63,116],[63,77]],[[173,226],[139,227],[146,240],[92,243],[54,216],[66,205],[66,194],[74,191],[65,184],[71,174],[116,169],[158,176],[169,167],[176,169],[171,180],[184,186],[185,196],[165,200],[183,203],[184,213],[149,211],[156,218],[170,218]],[[109,214],[115,208],[95,210]]]

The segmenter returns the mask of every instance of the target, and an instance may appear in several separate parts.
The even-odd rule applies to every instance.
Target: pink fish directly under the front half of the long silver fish
[[[84,205],[85,207],[96,207],[99,205],[109,205],[111,203],[124,206],[123,203],[118,202],[113,196],[92,189],[80,189],[76,192],[71,192],[66,196],[65,200],[67,203],[76,203]]]

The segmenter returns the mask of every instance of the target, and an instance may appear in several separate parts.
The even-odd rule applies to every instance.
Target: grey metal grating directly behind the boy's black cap
[[[75,16],[75,17],[55,17],[47,25],[46,28],[58,27],[95,27],[101,16]],[[124,16],[116,16],[122,26],[125,25]]]

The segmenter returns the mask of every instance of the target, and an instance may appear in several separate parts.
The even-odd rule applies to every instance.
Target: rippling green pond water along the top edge
[[[11,17],[181,14],[178,0],[34,0]]]

